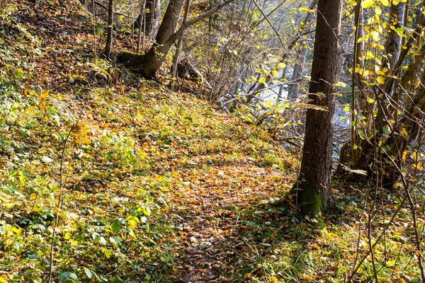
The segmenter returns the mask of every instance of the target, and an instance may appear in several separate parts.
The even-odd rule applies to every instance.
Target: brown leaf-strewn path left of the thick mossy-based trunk
[[[256,246],[273,246],[273,229],[278,232],[283,227],[276,224],[287,220],[266,207],[283,197],[278,186],[288,187],[291,180],[254,163],[212,166],[206,172],[195,166],[185,173],[193,183],[183,183],[173,200],[181,215],[176,282],[244,281],[249,276],[240,269],[249,266],[261,273],[259,260],[272,250],[264,253]]]

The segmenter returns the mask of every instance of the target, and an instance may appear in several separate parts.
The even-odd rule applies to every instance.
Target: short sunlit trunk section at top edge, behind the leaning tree
[[[149,11],[146,11],[146,9],[149,9]],[[146,0],[145,15],[140,13],[133,26],[140,28],[141,23],[142,32],[154,39],[158,32],[160,10],[161,0]]]

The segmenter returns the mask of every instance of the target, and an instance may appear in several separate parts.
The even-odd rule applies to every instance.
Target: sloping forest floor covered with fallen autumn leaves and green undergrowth
[[[283,202],[297,154],[266,127],[95,64],[92,30],[73,1],[0,11],[0,282],[48,282],[51,267],[54,282],[344,282],[370,240],[358,185],[334,183],[344,212],[312,229]],[[375,253],[382,282],[419,278],[399,217]],[[371,274],[369,258],[353,282]]]

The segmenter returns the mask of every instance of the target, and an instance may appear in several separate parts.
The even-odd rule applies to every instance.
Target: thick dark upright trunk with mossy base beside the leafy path
[[[334,129],[335,83],[339,72],[341,0],[319,0],[314,39],[311,107],[307,110],[300,177],[293,193],[303,216],[319,217],[334,207],[329,192]],[[322,108],[322,109],[319,109]]]

